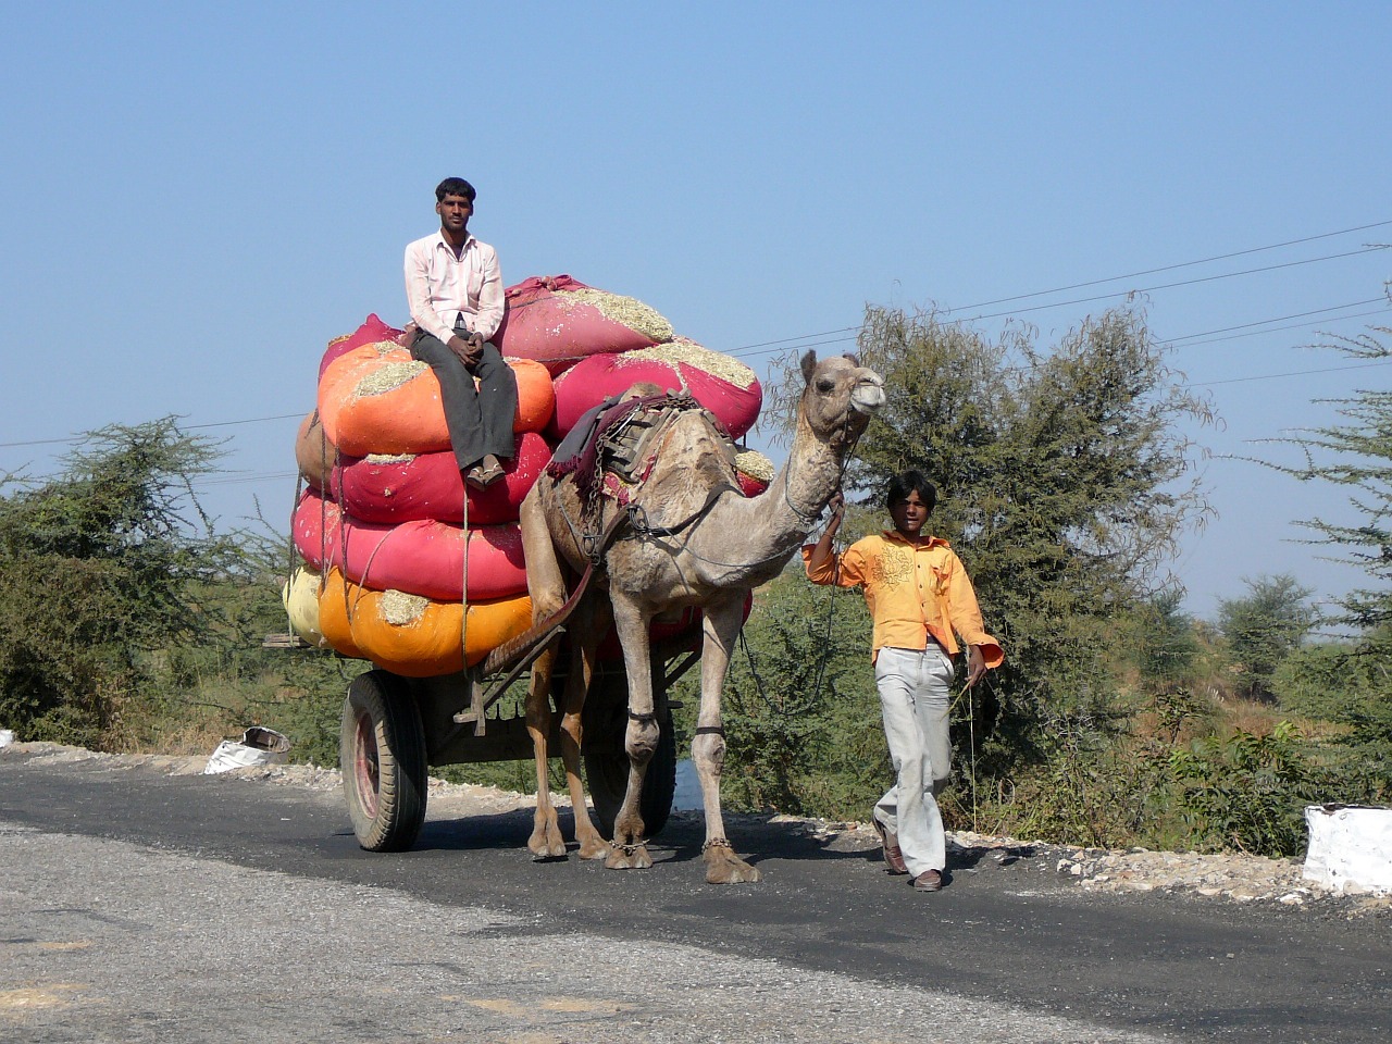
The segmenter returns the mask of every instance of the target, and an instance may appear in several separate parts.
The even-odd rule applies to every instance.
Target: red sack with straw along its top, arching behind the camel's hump
[[[732,438],[754,426],[764,402],[764,390],[749,366],[732,355],[677,338],[654,348],[592,355],[558,376],[553,381],[555,415],[547,433],[564,437],[585,411],[640,380],[667,391],[689,393]]]

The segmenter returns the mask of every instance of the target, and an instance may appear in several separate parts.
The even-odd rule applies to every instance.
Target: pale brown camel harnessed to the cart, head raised
[[[788,462],[759,497],[739,493],[731,443],[703,411],[677,415],[660,440],[647,479],[625,509],[601,496],[587,516],[575,475],[544,473],[521,509],[522,543],[533,619],[544,621],[567,600],[562,562],[580,572],[600,532],[612,539],[600,547],[596,582],[574,610],[572,665],[561,718],[561,756],[575,809],[575,838],[583,859],[611,869],[653,864],[639,812],[643,773],[657,749],[649,624],[657,614],[696,606],[702,610],[700,711],[692,760],[706,810],[706,880],[711,884],[757,881],[759,870],[735,855],[725,838],[720,775],[725,757],[721,689],[731,651],[743,625],[746,596],[777,576],[817,523],[839,489],[842,465],[884,405],[884,380],[855,356],[802,359],[806,387],[798,404],[796,433]],[[599,518],[594,518],[597,509]],[[615,519],[617,514],[626,519]],[[586,523],[589,529],[586,529]],[[612,526],[612,530],[610,530]],[[678,530],[678,532],[665,532]],[[580,784],[580,711],[594,675],[597,646],[612,621],[628,675],[628,788],[607,844],[586,814]],[[557,642],[532,667],[526,721],[537,766],[537,807],[528,848],[537,859],[562,857],[565,841],[547,788],[551,670]]]

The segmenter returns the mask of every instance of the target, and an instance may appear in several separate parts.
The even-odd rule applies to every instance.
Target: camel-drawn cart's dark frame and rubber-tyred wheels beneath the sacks
[[[564,632],[564,628],[557,628]],[[564,642],[564,638],[562,638]],[[642,816],[654,837],[671,814],[677,789],[677,738],[672,734],[671,686],[700,657],[700,626],[654,642],[653,704],[660,739],[643,777]],[[348,814],[358,842],[370,852],[409,849],[426,817],[426,777],[432,767],[480,761],[528,760],[535,754],[523,715],[490,714],[530,668],[546,642],[511,664],[433,678],[405,678],[373,668],[348,686],[340,734],[340,764]],[[567,650],[555,658],[553,704],[562,699]],[[622,660],[601,661],[583,711],[585,777],[600,832],[614,837],[614,820],[628,786],[628,678]],[[547,749],[558,752],[558,707],[553,706]],[[575,814],[586,814],[576,809]]]

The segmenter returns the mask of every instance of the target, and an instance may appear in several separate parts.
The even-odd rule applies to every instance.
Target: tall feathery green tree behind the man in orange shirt
[[[995,773],[1052,736],[1098,732],[1118,619],[1175,586],[1166,561],[1208,514],[1180,426],[1212,413],[1166,366],[1143,310],[1089,319],[1052,348],[1034,338],[881,306],[859,338],[888,395],[848,470],[871,507],[860,530],[883,528],[889,476],[919,468],[938,487],[930,526],[965,561],[1006,650],[983,707],[999,715]],[[1057,728],[1062,715],[1073,724]]]

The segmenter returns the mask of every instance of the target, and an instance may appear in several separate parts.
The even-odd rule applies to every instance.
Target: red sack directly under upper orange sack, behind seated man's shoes
[[[469,486],[469,525],[515,522],[528,490],[551,459],[551,447],[536,432],[518,436],[503,477],[483,490]],[[334,469],[333,498],[363,522],[409,522],[433,518],[464,522],[465,483],[448,450],[401,457],[348,458]]]

